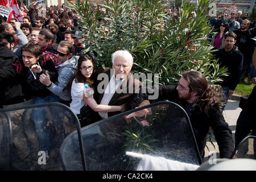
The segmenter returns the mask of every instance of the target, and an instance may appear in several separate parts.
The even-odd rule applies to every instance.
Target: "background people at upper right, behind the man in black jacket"
[[[216,30],[211,36],[211,44],[215,49],[224,48],[225,34],[228,32],[236,34],[234,46],[243,54],[242,73],[245,72],[245,76],[242,81],[247,83],[251,72],[254,71],[252,63],[254,45],[250,39],[256,37],[256,21],[249,19],[248,13],[224,10],[218,18],[212,16],[209,23]]]

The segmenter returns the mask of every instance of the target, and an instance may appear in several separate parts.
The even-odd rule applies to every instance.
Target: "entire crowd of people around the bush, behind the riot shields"
[[[106,13],[96,4],[92,9]],[[148,95],[152,92],[139,92],[142,82],[130,73],[133,56],[129,51],[115,51],[112,55],[113,69],[98,72],[93,57],[82,52],[89,45],[81,42],[81,30],[76,29],[80,19],[75,11],[58,5],[47,8],[44,15],[35,1],[29,7],[23,5],[22,10],[28,15],[24,16],[22,23],[10,19],[8,23],[2,20],[0,25],[1,107],[61,102],[77,114],[83,127],[127,108],[150,104]],[[172,10],[167,12],[172,13]],[[249,70],[253,49],[249,49],[247,40],[255,37],[256,31],[255,28],[249,29],[250,20],[243,19],[240,25],[241,18],[237,22],[235,15],[232,12],[230,19],[221,16],[221,22],[216,20],[214,26],[218,32],[212,36],[212,45],[218,49],[216,58],[231,73],[224,77],[221,85],[226,101],[233,94],[242,71],[246,71],[246,77],[250,74],[252,78],[255,76],[252,73],[254,69]],[[104,73],[107,78],[102,92],[97,89],[104,81],[97,80],[99,73]],[[130,81],[133,86],[129,85]],[[93,98],[84,93],[85,84],[93,89]],[[118,92],[123,88],[131,90]],[[183,73],[178,85],[159,86],[159,99],[174,101],[187,111],[202,158],[210,127],[220,147],[221,158],[230,158],[234,151],[232,131],[222,115],[224,107],[220,93],[214,89],[202,73],[189,71]],[[127,119],[132,116],[127,116]],[[19,135],[16,135],[18,130],[14,130],[15,146],[21,139],[26,143],[26,137],[20,136],[20,119],[14,116],[12,119],[19,129]],[[33,110],[31,121],[35,125],[39,150],[46,151],[49,158],[50,141],[47,133],[42,132],[44,109]],[[34,139],[35,146],[38,142]],[[29,160],[30,154],[24,143],[19,147],[19,156],[22,160]]]

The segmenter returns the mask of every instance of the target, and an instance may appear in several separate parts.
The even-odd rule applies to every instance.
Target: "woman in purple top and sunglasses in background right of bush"
[[[212,46],[214,49],[224,48],[224,35],[229,31],[229,24],[222,22],[218,31],[212,36]]]

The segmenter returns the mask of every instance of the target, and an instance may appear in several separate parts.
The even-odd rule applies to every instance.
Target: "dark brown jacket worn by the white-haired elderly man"
[[[112,75],[110,75],[110,68],[106,68],[104,72],[106,75],[108,75],[108,82],[110,81],[110,78]],[[113,72],[114,73],[114,72]],[[100,84],[102,80],[97,81],[97,85]],[[129,84],[133,84],[130,86],[133,90],[129,90]],[[125,85],[124,88],[122,88],[122,85]],[[139,104],[141,104],[142,101],[144,101],[144,98],[140,98],[139,94],[139,89],[142,87],[142,82],[135,79],[133,77],[133,74],[129,73],[129,75],[126,77],[126,80],[123,81],[123,84],[119,86],[119,89],[127,91],[127,93],[117,93],[115,92],[112,99],[109,101],[109,105],[122,105],[122,104],[129,104],[131,108],[137,107]],[[104,88],[105,90],[106,88]],[[94,89],[95,90],[95,89]],[[97,89],[96,89],[97,90]],[[129,93],[130,91],[130,93]],[[97,93],[95,94],[95,99],[98,104],[101,103],[101,100],[104,96],[104,93]],[[136,98],[135,98],[136,97]],[[108,117],[111,117],[112,115],[119,114],[119,111],[111,112],[108,113]]]

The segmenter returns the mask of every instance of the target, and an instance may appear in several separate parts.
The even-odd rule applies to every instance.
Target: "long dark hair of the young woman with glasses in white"
[[[92,72],[92,75],[90,76],[90,78],[86,78],[84,75],[82,75],[82,72],[80,70],[82,61],[88,61],[88,60],[92,61],[92,64],[93,64],[93,72]],[[75,79],[76,83],[79,82],[79,83],[88,84],[91,87],[93,86],[94,81],[96,81],[96,79],[97,79],[96,64],[94,63],[93,58],[91,56],[89,56],[88,54],[82,54],[79,57],[79,60],[77,62],[76,73],[68,81],[67,85],[63,88],[63,91],[71,90],[72,82],[74,79]]]

